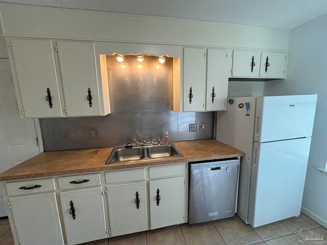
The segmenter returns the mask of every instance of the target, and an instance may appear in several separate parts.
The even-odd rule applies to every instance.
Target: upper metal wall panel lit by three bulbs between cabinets
[[[144,112],[173,110],[173,58],[164,64],[158,57],[125,55],[119,63],[107,55],[111,112]]]

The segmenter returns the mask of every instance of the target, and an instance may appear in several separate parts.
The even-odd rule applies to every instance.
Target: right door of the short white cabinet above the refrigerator
[[[284,53],[262,52],[259,76],[261,78],[284,78],[285,66],[286,66],[285,52]]]

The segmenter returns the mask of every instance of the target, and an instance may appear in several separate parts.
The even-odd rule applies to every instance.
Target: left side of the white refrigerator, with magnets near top
[[[232,100],[232,104],[230,103]],[[248,188],[252,157],[252,140],[255,116],[255,97],[228,99],[227,111],[217,112],[216,139],[242,152],[237,214],[247,223]],[[245,103],[249,103],[247,112]]]

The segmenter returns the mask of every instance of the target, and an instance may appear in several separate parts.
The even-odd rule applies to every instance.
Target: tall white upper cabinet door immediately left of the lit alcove
[[[100,115],[94,43],[58,41],[57,46],[67,116]]]

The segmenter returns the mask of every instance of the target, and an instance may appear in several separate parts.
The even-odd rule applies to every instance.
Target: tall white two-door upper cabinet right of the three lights
[[[224,110],[227,100],[227,51],[184,48],[183,111]]]

